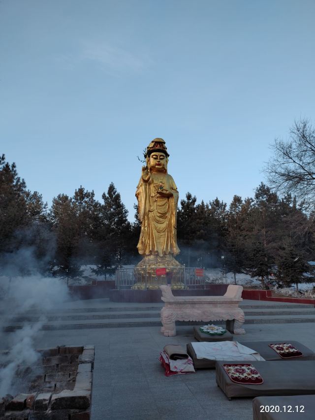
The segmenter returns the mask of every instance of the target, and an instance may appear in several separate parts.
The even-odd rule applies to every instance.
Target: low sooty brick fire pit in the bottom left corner
[[[94,346],[39,350],[39,366],[20,366],[30,376],[25,393],[0,396],[3,420],[90,420]]]

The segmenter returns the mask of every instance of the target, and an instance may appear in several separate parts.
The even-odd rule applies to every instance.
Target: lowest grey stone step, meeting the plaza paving
[[[220,322],[216,322],[221,324]],[[265,315],[247,317],[245,324],[253,323],[315,323],[315,315],[300,315],[296,318],[290,318],[286,315],[274,316]],[[203,325],[204,322],[177,322],[178,325]],[[224,323],[223,323],[224,324]],[[120,322],[114,320],[107,320],[106,323],[91,323],[90,320],[82,320],[80,323],[73,323],[72,321],[46,323],[42,326],[43,330],[62,330],[62,329],[82,329],[82,328],[119,328],[119,327],[138,327],[138,326],[161,326],[161,322],[156,318],[147,318],[145,321],[138,321],[137,319],[120,319]],[[5,331],[14,331],[22,328],[23,325],[11,323],[11,325],[4,328]]]

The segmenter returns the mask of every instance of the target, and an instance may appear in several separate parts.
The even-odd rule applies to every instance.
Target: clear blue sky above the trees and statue
[[[252,196],[274,138],[314,122],[314,15],[314,0],[2,0],[0,153],[49,205],[114,182],[130,220],[155,137],[180,198]]]

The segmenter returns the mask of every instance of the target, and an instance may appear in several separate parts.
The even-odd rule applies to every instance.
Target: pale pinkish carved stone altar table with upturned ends
[[[238,307],[243,287],[229,285],[223,296],[174,296],[169,286],[160,286],[161,332],[166,337],[176,335],[175,321],[225,321],[226,329],[234,334],[245,334],[244,312]]]

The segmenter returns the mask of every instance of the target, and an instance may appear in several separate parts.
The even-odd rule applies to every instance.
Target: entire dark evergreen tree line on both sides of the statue
[[[197,204],[190,193],[180,204],[177,258],[187,266],[258,276],[263,287],[270,278],[285,286],[314,280],[308,263],[314,259],[314,215],[303,201],[297,203],[290,194],[279,197],[261,183],[253,198],[235,195],[229,207],[218,198]],[[106,278],[118,265],[140,260],[136,206],[135,211],[130,223],[113,183],[102,194],[102,202],[80,186],[71,197],[59,194],[48,208],[2,155],[0,270],[5,273],[17,253],[31,249],[42,273],[76,277],[82,275],[82,264],[93,264],[95,274]]]

